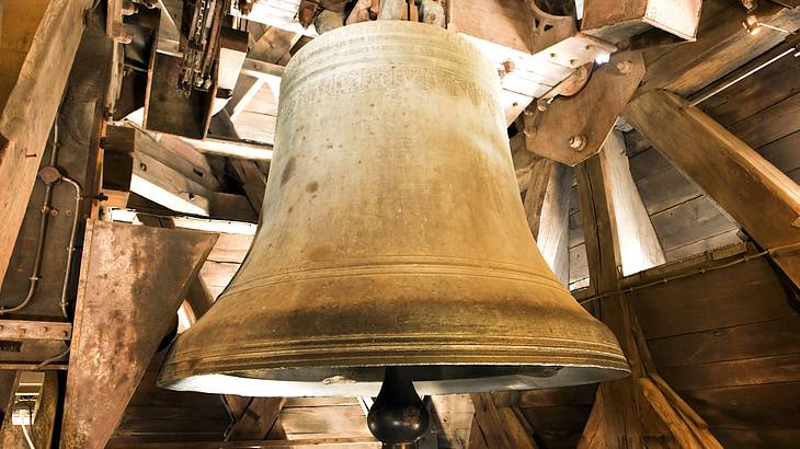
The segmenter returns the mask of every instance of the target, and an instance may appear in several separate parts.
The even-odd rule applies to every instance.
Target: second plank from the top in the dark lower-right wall
[[[800,344],[800,316],[654,338],[648,344],[662,368],[793,354]]]

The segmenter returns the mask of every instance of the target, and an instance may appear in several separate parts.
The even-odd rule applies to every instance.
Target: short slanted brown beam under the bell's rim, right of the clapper
[[[472,427],[479,427],[482,441],[488,448],[515,448],[536,449],[533,430],[521,414],[513,407],[499,407],[494,404],[490,393],[472,394],[475,405],[475,423]],[[477,426],[476,426],[477,424]],[[475,430],[473,430],[475,431]],[[481,447],[481,440],[477,439],[475,446]]]

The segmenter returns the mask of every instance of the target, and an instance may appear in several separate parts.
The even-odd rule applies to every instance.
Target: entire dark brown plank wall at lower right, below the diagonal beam
[[[800,299],[765,258],[631,295],[659,371],[725,448],[800,441]]]

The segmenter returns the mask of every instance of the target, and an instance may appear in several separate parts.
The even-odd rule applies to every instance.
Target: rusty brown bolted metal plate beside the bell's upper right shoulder
[[[567,165],[596,154],[643,77],[641,51],[613,55],[578,94],[525,116],[527,149]]]

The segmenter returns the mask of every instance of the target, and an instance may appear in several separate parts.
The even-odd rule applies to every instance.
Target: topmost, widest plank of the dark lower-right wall
[[[797,314],[786,300],[780,279],[764,258],[655,285],[633,291],[629,298],[648,338]]]

